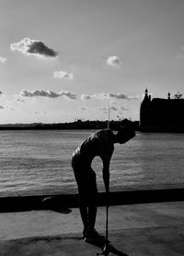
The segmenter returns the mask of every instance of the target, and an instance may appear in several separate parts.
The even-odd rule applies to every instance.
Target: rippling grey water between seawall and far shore
[[[1,130],[0,195],[76,192],[71,156],[92,130]],[[184,184],[184,134],[139,133],[116,144],[110,190]],[[97,157],[93,168],[104,190]]]

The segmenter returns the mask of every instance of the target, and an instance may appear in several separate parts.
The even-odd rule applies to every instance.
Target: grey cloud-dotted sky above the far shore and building
[[[183,0],[0,0],[0,124],[139,120],[184,90]]]

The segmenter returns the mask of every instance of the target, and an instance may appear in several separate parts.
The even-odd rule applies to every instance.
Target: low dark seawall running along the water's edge
[[[49,201],[43,201],[45,197],[51,197]],[[128,205],[150,202],[184,201],[184,189],[175,187],[147,187],[141,189],[126,189],[109,193],[109,205]],[[105,206],[107,198],[105,192],[98,193],[98,206]],[[54,207],[76,208],[78,207],[77,194],[60,195],[29,195],[0,197],[0,213],[25,212],[31,210],[48,210]]]

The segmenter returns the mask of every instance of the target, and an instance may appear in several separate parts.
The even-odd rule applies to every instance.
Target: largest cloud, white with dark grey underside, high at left
[[[36,57],[52,57],[55,58],[58,55],[58,52],[54,51],[52,48],[49,48],[41,41],[24,38],[18,43],[10,44],[11,51],[18,51],[24,55],[33,55]]]

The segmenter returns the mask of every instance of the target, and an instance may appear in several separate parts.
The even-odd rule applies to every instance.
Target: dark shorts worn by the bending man
[[[72,166],[78,187],[80,204],[89,206],[97,204],[97,177],[90,165],[86,165],[80,157],[73,156]]]

